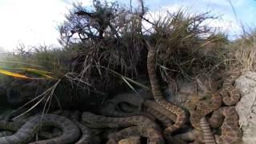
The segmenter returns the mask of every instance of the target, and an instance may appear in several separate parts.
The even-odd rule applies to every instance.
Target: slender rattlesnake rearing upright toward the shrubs
[[[150,78],[150,84],[152,93],[154,95],[154,100],[159,105],[164,107],[166,110],[169,110],[171,113],[175,114],[177,116],[176,121],[174,125],[169,126],[164,131],[165,135],[170,135],[175,130],[178,130],[181,128],[187,121],[187,115],[186,111],[183,110],[181,107],[176,106],[174,103],[167,102],[165,98],[163,98],[162,91],[160,90],[156,69],[155,69],[155,51],[152,46],[150,46],[149,42],[147,42],[147,45],[149,47],[148,54],[147,54],[147,70]]]

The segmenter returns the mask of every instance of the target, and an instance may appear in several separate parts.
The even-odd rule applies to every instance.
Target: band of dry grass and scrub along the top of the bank
[[[58,78],[49,82],[50,86],[42,94],[32,98],[31,102],[35,104],[31,108],[46,102],[43,110],[48,111],[54,90],[62,82],[68,82],[70,90],[79,87],[101,95],[120,84],[134,91],[131,83],[147,89],[134,81],[134,78],[147,74],[145,40],[156,48],[156,65],[164,82],[175,78],[196,80],[199,74],[234,66],[255,70],[256,34],[245,34],[237,41],[229,42],[225,34],[204,24],[214,18],[209,13],[191,15],[181,9],[176,13],[166,12],[166,16],[158,15],[157,19],[146,19],[146,8],[142,1],[141,4],[142,10],[127,10],[116,4],[96,6],[93,12],[97,14],[97,10],[110,10],[113,14],[104,29],[103,38],[98,35],[99,20],[96,19],[98,23],[90,23],[90,19],[75,15],[74,12],[86,8],[74,6],[59,27],[64,49],[38,46],[34,50],[20,49],[17,54],[6,56],[6,62],[23,62],[15,66],[33,63],[50,70]],[[145,22],[147,26],[143,25]],[[81,34],[83,30],[95,35],[90,37],[89,34],[88,38],[87,33],[82,35],[83,38],[74,35]]]

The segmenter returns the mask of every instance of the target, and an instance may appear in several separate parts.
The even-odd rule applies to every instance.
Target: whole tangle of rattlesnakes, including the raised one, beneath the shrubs
[[[158,78],[155,68],[155,51],[150,47],[147,55],[147,69],[150,78],[150,84],[152,93],[154,95],[153,101],[142,102],[139,100],[137,103],[134,101],[138,98],[117,98],[116,100],[110,100],[111,109],[114,109],[115,105],[112,103],[121,103],[119,107],[120,110],[126,111],[127,114],[122,114],[120,111],[116,110],[113,114],[111,112],[109,115],[119,115],[125,118],[110,118],[104,117],[90,112],[84,112],[82,114],[82,121],[86,125],[82,125],[78,121],[78,118],[69,120],[60,115],[56,114],[46,114],[43,117],[41,115],[34,116],[30,118],[24,125],[14,124],[11,122],[0,122],[0,128],[16,131],[14,134],[10,131],[0,133],[2,137],[0,138],[1,144],[20,144],[28,143],[31,144],[61,144],[61,143],[90,143],[90,130],[87,126],[91,128],[115,128],[122,127],[124,129],[109,135],[109,140],[107,144],[117,144],[123,138],[130,137],[146,137],[147,143],[149,144],[162,144],[164,139],[160,131],[160,127],[156,122],[145,116],[135,114],[144,114],[141,112],[141,105],[146,107],[146,113],[153,115],[158,121],[162,122],[163,126],[167,127],[164,130],[164,136],[170,136],[174,131],[180,129],[185,125],[187,116],[185,110],[181,107],[175,105],[174,103],[167,102],[163,97],[162,91],[158,84]],[[242,131],[238,126],[238,114],[236,113],[233,105],[235,105],[239,99],[240,94],[236,88],[234,88],[234,79],[238,78],[241,73],[233,73],[228,78],[226,78],[222,84],[222,90],[219,93],[210,93],[210,102],[198,101],[194,106],[190,107],[190,122],[194,128],[202,130],[204,142],[206,144],[214,143],[233,143],[240,141],[242,138]],[[115,102],[116,101],[116,102]],[[222,106],[222,102],[226,105]],[[129,107],[133,104],[134,107]],[[111,107],[112,106],[112,107]],[[105,109],[106,112],[109,112]],[[103,109],[104,111],[104,109]],[[209,119],[210,126],[218,128],[221,126],[222,133],[220,136],[211,133],[210,126],[207,122],[206,115],[213,113]],[[127,117],[129,116],[129,117]],[[10,118],[10,116],[8,117]],[[173,124],[174,123],[174,124]],[[41,126],[55,126],[61,129],[62,134],[58,134],[57,137],[49,138],[46,140],[31,142],[34,135],[38,133]],[[82,131],[82,137],[80,133]],[[80,137],[80,139],[79,139]],[[215,140],[214,140],[215,139]],[[216,141],[216,142],[215,142]]]

